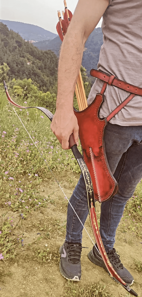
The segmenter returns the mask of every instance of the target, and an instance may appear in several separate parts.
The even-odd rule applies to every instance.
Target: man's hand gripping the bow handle
[[[51,130],[58,138],[62,149],[69,149],[68,140],[72,133],[78,146],[79,127],[73,110],[70,112],[67,109],[56,110],[52,120]]]

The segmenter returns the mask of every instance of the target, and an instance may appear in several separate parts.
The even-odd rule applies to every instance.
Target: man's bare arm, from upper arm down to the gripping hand
[[[78,124],[73,111],[74,89],[82,62],[83,49],[109,4],[109,0],[79,0],[63,40],[59,58],[56,112],[51,129],[63,149],[73,132],[78,144]]]

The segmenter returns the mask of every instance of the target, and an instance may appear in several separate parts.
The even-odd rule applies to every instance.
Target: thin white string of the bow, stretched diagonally
[[[10,102],[9,102],[9,103],[10,103]],[[29,134],[29,132],[27,131],[26,127],[24,126],[24,124],[23,124],[22,120],[20,119],[20,117],[18,116],[17,112],[15,111],[15,108],[13,107],[13,105],[12,105],[11,103],[10,103],[10,105],[12,106],[12,108],[13,108],[13,110],[14,110],[15,114],[17,115],[18,119],[20,120],[21,124],[23,125],[24,129],[26,130],[27,134],[29,135],[30,139],[31,139],[31,140],[32,140],[32,142],[34,143],[35,147],[37,148],[37,150],[38,150],[38,152],[39,152],[40,156],[43,158],[42,154],[40,153],[40,150],[39,150],[39,149],[38,149],[38,147],[36,146],[36,144],[35,144],[34,140],[32,139],[31,135],[30,135],[30,134]],[[62,191],[62,192],[63,192],[63,194],[65,195],[65,193],[64,193],[64,191],[63,191],[63,189],[62,189],[62,187],[60,186],[60,184],[59,184],[59,182],[57,181],[57,179],[56,179],[56,177],[55,177],[54,173],[52,172],[52,170],[50,169],[50,167],[49,167],[48,163],[46,162],[46,160],[45,160],[44,158],[43,158],[43,161],[46,163],[46,165],[47,165],[47,167],[49,168],[49,170],[50,170],[51,174],[53,175],[54,179],[56,180],[56,182],[57,182],[58,186],[60,187],[61,191]],[[65,195],[65,198],[68,200],[68,203],[71,205],[71,202],[69,201],[69,199],[68,199],[68,197],[67,197],[66,195]],[[93,245],[95,245],[95,243],[93,242],[93,239],[92,239],[92,238],[91,238],[91,236],[89,235],[88,231],[86,230],[85,226],[83,225],[83,223],[82,223],[81,219],[79,218],[78,214],[76,213],[76,211],[74,210],[74,208],[73,208],[73,206],[72,206],[72,205],[71,205],[71,208],[73,209],[74,213],[76,214],[77,218],[79,219],[79,222],[82,224],[82,226],[83,226],[84,230],[86,231],[86,233],[88,234],[89,238],[91,239],[91,241],[92,241]]]

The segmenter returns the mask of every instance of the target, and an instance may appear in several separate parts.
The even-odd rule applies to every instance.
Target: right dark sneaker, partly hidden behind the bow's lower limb
[[[110,263],[112,264],[113,268],[115,269],[116,273],[125,281],[127,285],[132,285],[134,282],[134,279],[132,275],[129,273],[129,271],[123,266],[123,264],[120,261],[120,256],[116,253],[115,248],[111,249],[107,253],[108,259],[110,260]],[[93,249],[88,253],[88,258],[90,261],[92,261],[94,264],[103,267],[108,274],[110,274],[104,264],[104,261],[102,260],[101,255],[96,250],[96,248],[93,247]]]

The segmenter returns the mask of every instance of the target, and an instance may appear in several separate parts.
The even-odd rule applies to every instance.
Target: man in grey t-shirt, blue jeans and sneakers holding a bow
[[[61,48],[57,109],[51,125],[63,149],[69,148],[68,139],[72,132],[78,144],[78,124],[73,112],[74,89],[84,44],[102,16],[104,44],[100,51],[98,69],[109,75],[115,75],[127,83],[142,87],[142,1],[79,0]],[[93,101],[96,93],[101,91],[102,85],[103,82],[96,79],[88,104]],[[128,92],[108,85],[99,116],[107,117],[128,95]],[[112,199],[102,202],[100,234],[110,262],[118,275],[129,285],[134,279],[121,263],[113,245],[126,202],[132,197],[142,176],[141,108],[142,98],[136,95],[110,120],[104,135],[107,160],[118,182],[119,191]],[[70,202],[84,224],[88,215],[88,205],[82,175]],[[60,248],[60,272],[66,279],[79,281],[82,225],[70,205],[68,205],[66,230],[65,242]],[[94,247],[89,252],[88,258],[96,265],[105,268],[102,258]]]

